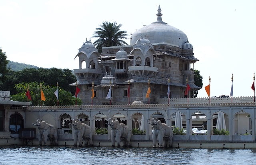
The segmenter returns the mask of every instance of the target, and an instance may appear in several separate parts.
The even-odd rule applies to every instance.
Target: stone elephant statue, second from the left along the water
[[[92,131],[89,125],[82,123],[79,119],[73,119],[71,125],[74,128],[72,131],[74,146],[77,146],[77,139],[79,146],[82,146],[82,139],[86,142],[85,145],[92,145]]]

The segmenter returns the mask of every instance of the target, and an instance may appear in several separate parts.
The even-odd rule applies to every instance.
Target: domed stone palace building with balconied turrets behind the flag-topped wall
[[[158,98],[168,97],[168,78],[170,98],[184,97],[187,78],[191,91],[200,89],[194,85],[191,64],[194,66],[198,59],[194,57],[193,46],[188,42],[188,37],[181,30],[162,21],[160,6],[156,15],[155,22],[132,34],[128,46],[103,47],[102,54],[99,54],[95,46],[86,39],[75,56],[75,59],[79,59],[79,68],[74,69],[81,89],[78,97],[82,99],[83,105],[90,105],[92,102],[93,83],[94,105],[110,103],[110,99],[106,99],[110,86],[112,104],[129,104],[129,99],[158,103]],[[149,100],[145,98],[148,85],[151,89]]]

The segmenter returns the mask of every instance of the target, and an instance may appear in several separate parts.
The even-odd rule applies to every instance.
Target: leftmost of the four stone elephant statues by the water
[[[38,127],[38,141],[39,145],[42,145],[42,139],[44,141],[44,145],[46,145],[47,137],[50,140],[51,145],[58,145],[58,133],[57,129],[54,128],[54,125],[48,124],[45,121],[42,121],[41,119],[36,120],[36,123],[33,125],[36,125]]]

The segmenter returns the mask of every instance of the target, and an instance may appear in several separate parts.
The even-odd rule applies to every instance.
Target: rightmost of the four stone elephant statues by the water
[[[148,121],[147,121],[148,122]],[[158,137],[159,147],[167,147],[167,143],[169,147],[172,147],[172,128],[166,123],[162,123],[157,118],[152,118],[152,123],[148,122],[153,126],[153,147],[156,147],[156,141]]]

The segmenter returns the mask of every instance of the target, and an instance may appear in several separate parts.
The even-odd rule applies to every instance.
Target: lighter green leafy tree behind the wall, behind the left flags
[[[31,83],[19,83],[15,85],[15,89],[19,92],[15,95],[12,95],[12,100],[14,101],[30,101],[26,97],[26,91],[29,87],[30,95],[32,98],[31,105],[56,105],[57,104],[57,97],[54,94],[54,91],[56,91],[56,86],[50,86],[45,85],[42,83],[42,91],[44,92],[44,96],[46,98],[45,101],[41,101],[41,89],[40,89],[40,83],[39,82],[31,82]],[[59,98],[59,105],[75,105],[77,102],[77,105],[81,105],[82,101],[81,99],[76,98],[72,96],[72,93],[69,91],[66,91],[59,87],[58,89],[58,98]]]

